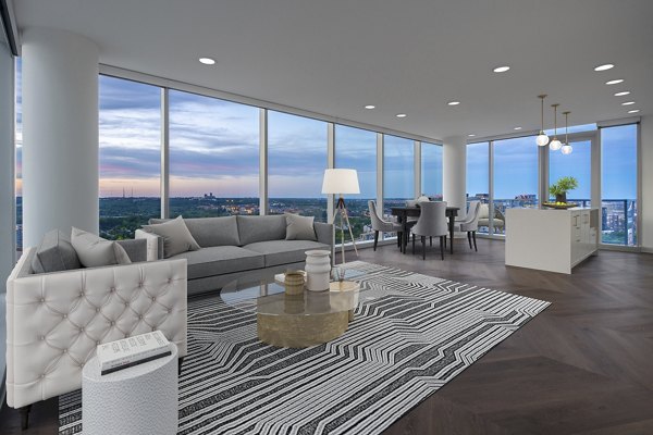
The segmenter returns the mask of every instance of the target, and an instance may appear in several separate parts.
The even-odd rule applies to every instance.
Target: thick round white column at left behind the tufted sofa
[[[24,246],[98,233],[98,48],[63,30],[23,33]]]

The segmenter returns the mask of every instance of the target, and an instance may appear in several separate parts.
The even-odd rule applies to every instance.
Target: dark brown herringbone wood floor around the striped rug
[[[562,275],[506,268],[503,241],[466,243],[444,261],[392,245],[359,259],[553,303],[386,434],[653,434],[653,256],[601,251]],[[0,434],[17,427],[3,409]],[[57,433],[56,399],[26,433]]]

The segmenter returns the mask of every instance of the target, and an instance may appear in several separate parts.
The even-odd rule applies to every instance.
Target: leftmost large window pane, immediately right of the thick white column
[[[133,238],[160,215],[160,88],[99,77],[100,236]]]

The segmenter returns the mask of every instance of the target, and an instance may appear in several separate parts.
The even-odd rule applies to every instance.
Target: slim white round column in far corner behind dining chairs
[[[467,140],[465,136],[452,136],[444,139],[442,166],[443,200],[449,207],[460,208],[459,215],[463,215],[467,207]]]

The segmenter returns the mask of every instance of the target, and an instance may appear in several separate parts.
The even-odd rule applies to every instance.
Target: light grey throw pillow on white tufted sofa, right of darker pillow
[[[73,227],[71,243],[85,268],[132,263],[122,246],[84,229]]]

